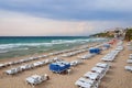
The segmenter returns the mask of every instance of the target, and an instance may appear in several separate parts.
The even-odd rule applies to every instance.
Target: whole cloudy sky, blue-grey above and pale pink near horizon
[[[132,0],[0,0],[0,36],[88,36],[132,24]]]

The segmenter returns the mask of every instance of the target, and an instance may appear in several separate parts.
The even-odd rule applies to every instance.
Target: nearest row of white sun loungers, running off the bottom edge
[[[98,88],[101,78],[106,75],[109,70],[110,65],[105,63],[98,63],[91,72],[88,72],[80,77],[75,85],[79,88]]]

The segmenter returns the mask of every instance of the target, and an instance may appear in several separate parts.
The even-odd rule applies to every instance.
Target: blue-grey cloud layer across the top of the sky
[[[74,21],[131,21],[132,0],[0,0],[3,10]]]

